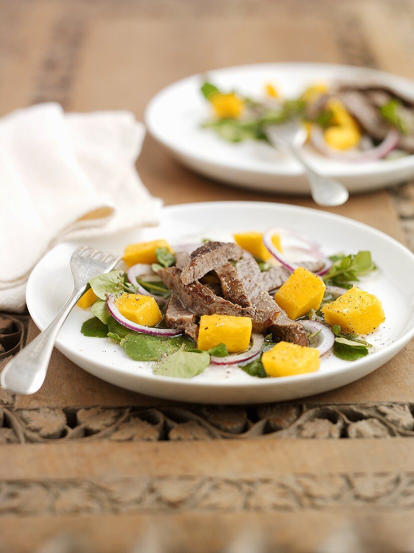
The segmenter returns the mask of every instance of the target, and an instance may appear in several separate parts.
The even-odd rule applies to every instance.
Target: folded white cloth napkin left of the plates
[[[161,200],[135,170],[132,113],[67,113],[56,103],[0,119],[0,310],[23,311],[25,283],[64,239],[155,225]]]

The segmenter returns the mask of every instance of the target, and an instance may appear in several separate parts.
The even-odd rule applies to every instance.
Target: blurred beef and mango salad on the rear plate
[[[319,82],[285,98],[268,82],[251,98],[206,81],[201,93],[211,105],[203,127],[228,142],[266,141],[268,125],[300,119],[307,145],[325,158],[366,163],[414,153],[414,102],[384,85]]]

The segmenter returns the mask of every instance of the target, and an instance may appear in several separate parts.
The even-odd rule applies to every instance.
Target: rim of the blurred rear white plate
[[[189,153],[187,150],[185,150],[185,148],[182,148],[181,145],[174,144],[173,139],[171,140],[166,139],[165,136],[158,131],[158,128],[152,124],[152,121],[151,121],[152,112],[155,110],[156,104],[161,100],[161,98],[166,93],[184,84],[185,81],[190,81],[197,77],[200,77],[201,79],[203,74],[208,74],[209,72],[216,73],[216,72],[225,72],[227,70],[247,70],[247,69],[251,69],[252,67],[267,67],[267,66],[269,67],[270,66],[273,66],[273,67],[274,66],[284,66],[284,67],[295,66],[298,68],[325,67],[325,68],[331,68],[331,69],[344,68],[347,71],[348,70],[367,71],[379,76],[383,76],[385,79],[391,78],[404,83],[405,86],[409,86],[412,88],[413,97],[414,97],[414,79],[408,79],[408,77],[391,73],[389,71],[382,71],[379,69],[375,69],[373,67],[364,67],[359,65],[348,65],[348,64],[333,64],[333,63],[323,63],[323,62],[320,63],[320,62],[311,62],[311,61],[258,62],[253,64],[241,64],[241,65],[217,67],[216,69],[209,69],[204,71],[203,73],[194,73],[192,75],[183,77],[182,79],[178,79],[170,83],[169,85],[164,86],[163,88],[161,88],[161,90],[156,92],[155,95],[153,95],[148,101],[144,111],[144,122],[148,130],[148,133],[173,154],[182,156],[183,158],[190,159],[195,163],[203,163],[203,164],[208,164],[209,166],[215,166],[216,168],[219,168],[219,169],[240,171],[241,173],[245,173],[245,174],[252,173],[252,174],[263,175],[263,176],[295,177],[295,176],[304,175],[304,170],[300,168],[300,165],[296,165],[296,164],[287,168],[286,167],[278,168],[278,164],[274,164],[274,167],[277,170],[271,170],[269,168],[264,168],[264,167],[262,168],[255,167],[250,169],[241,167],[241,166],[238,166],[237,164],[231,163],[230,159],[228,161],[221,159],[220,161],[213,162],[209,158],[204,158],[204,156],[199,156],[199,155],[194,155],[192,153]],[[323,157],[321,157],[321,159],[323,159]],[[271,167],[273,168],[273,165]],[[352,170],[353,168],[357,168],[357,170]],[[358,176],[369,176],[369,175],[375,175],[376,173],[382,173],[382,174],[388,175],[388,174],[394,173],[395,171],[402,171],[410,168],[414,168],[414,154],[405,156],[403,158],[389,160],[387,161],[385,166],[383,166],[383,164],[379,165],[378,160],[372,161],[369,163],[363,163],[363,164],[339,163],[337,166],[337,169],[332,171],[327,171],[326,174],[332,174],[337,176],[338,178],[341,178],[341,177],[357,178]]]

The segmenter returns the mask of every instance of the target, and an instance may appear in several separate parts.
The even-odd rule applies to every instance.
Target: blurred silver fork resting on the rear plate
[[[307,163],[301,152],[301,147],[306,140],[306,131],[299,121],[268,125],[265,132],[270,144],[293,155],[304,168],[309,180],[312,198],[316,204],[320,206],[339,206],[348,200],[349,192],[341,182],[319,175]]]

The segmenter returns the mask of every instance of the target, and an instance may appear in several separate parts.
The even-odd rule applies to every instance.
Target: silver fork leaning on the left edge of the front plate
[[[73,252],[69,265],[73,279],[70,298],[50,325],[7,363],[0,375],[2,388],[25,395],[39,390],[46,377],[57,334],[72,307],[84,293],[89,280],[113,269],[119,259],[110,253],[99,252],[87,246]]]

